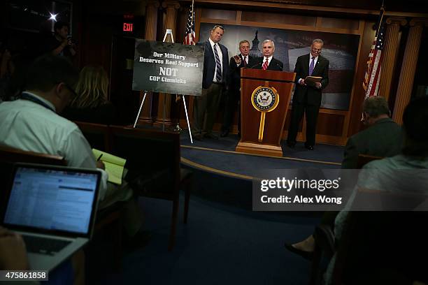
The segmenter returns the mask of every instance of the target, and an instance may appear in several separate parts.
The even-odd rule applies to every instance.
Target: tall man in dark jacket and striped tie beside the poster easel
[[[223,34],[223,27],[216,25],[211,30],[208,41],[198,43],[198,45],[204,45],[205,57],[202,94],[195,97],[193,105],[193,136],[196,140],[201,140],[202,138],[205,114],[204,137],[218,139],[217,136],[213,135],[213,125],[218,106],[220,105],[222,92],[226,89],[229,71],[229,54],[227,53],[227,48],[219,43]]]

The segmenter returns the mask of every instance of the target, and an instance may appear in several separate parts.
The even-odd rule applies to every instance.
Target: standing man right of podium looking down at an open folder
[[[313,40],[311,53],[297,58],[294,73],[296,73],[296,89],[293,96],[293,108],[288,130],[287,145],[296,145],[297,131],[301,118],[306,113],[306,149],[313,150],[315,145],[315,131],[317,127],[318,111],[321,105],[322,89],[329,84],[329,61],[322,57],[321,50],[324,42]],[[320,82],[314,86],[306,85],[306,76],[320,77]]]

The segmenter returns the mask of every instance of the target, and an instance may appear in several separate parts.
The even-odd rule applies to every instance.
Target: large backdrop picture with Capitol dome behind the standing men
[[[201,23],[200,41],[208,40],[212,27],[211,23]],[[324,41],[321,55],[330,61],[329,85],[322,90],[321,108],[349,110],[357,64],[358,35],[231,24],[224,24],[223,27],[221,43],[229,50],[229,56],[238,54],[239,42],[246,39],[250,41],[250,56],[262,57],[262,43],[271,39],[275,42],[273,57],[283,61],[284,71],[287,72],[294,71],[297,57],[311,52],[312,40],[321,38]]]

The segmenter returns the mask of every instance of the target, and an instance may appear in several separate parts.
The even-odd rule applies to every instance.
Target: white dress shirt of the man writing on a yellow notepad
[[[67,165],[97,168],[94,154],[85,136],[73,122],[58,115],[50,101],[29,93],[45,103],[18,99],[0,104],[0,145],[29,152],[63,156]],[[107,189],[108,174],[101,170],[99,200]]]

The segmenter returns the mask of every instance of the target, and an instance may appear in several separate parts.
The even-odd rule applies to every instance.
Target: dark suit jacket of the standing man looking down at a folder
[[[321,105],[321,92],[322,89],[327,87],[329,84],[329,61],[321,55],[318,56],[317,64],[313,68],[312,76],[322,77],[320,89],[301,86],[299,85],[299,79],[305,79],[309,75],[309,58],[311,54],[304,54],[297,58],[296,67],[294,67],[294,73],[296,73],[296,89],[294,90],[293,103],[304,103],[305,95],[307,94],[308,99],[306,103],[308,105]]]

